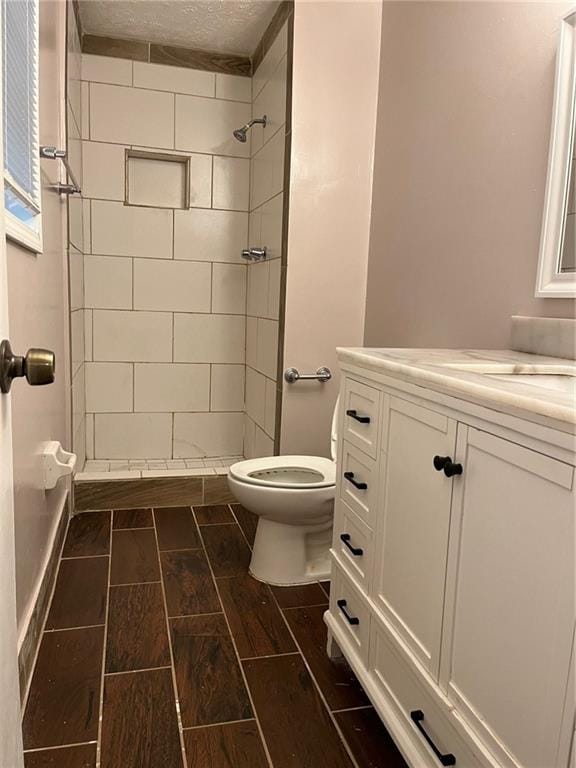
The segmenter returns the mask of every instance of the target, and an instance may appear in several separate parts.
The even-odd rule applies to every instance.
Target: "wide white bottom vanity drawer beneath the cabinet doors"
[[[438,768],[440,765],[456,765],[457,768],[487,768],[496,766],[485,755],[476,753],[460,735],[456,720],[447,705],[442,706],[420,679],[415,668],[394,648],[393,641],[377,621],[370,631],[369,674],[385,699],[394,702],[400,710],[405,728],[412,734],[429,760],[421,768]],[[430,741],[427,741],[427,738]],[[437,753],[435,753],[435,750]],[[455,763],[442,762],[440,755],[453,755]]]

